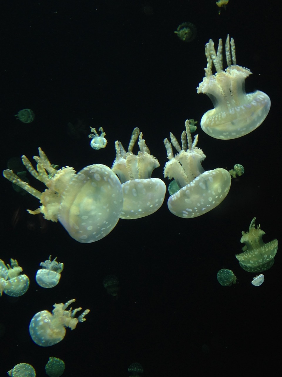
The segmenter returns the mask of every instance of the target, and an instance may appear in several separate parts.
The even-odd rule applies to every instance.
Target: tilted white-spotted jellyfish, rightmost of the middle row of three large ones
[[[188,120],[185,122],[185,128],[186,132],[183,131],[181,135],[182,148],[176,137],[170,133],[171,143],[179,152],[175,156],[171,143],[168,139],[164,139],[168,157],[164,177],[174,178],[179,187],[179,190],[168,198],[168,209],[173,215],[193,218],[212,210],[223,201],[229,192],[231,177],[223,168],[205,172],[201,163],[206,156],[196,147],[198,135],[192,143]],[[177,189],[176,185],[174,185],[175,189]]]

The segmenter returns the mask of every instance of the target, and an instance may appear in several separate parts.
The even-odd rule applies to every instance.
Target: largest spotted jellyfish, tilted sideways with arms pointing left
[[[98,241],[110,233],[123,206],[121,184],[112,170],[102,164],[86,166],[78,173],[68,166],[56,170],[41,148],[38,150],[39,156],[33,157],[37,171],[26,156],[22,160],[30,174],[47,186],[44,192],[22,181],[12,170],[3,171],[5,178],[41,202],[37,210],[28,212],[59,220],[70,236],[82,243]]]

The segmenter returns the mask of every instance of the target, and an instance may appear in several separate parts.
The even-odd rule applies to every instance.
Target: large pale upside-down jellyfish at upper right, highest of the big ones
[[[201,119],[201,127],[216,139],[235,139],[255,130],[265,120],[270,109],[270,98],[256,90],[244,90],[245,79],[252,74],[249,69],[236,64],[235,43],[227,35],[225,55],[227,68],[223,70],[222,40],[218,41],[215,52],[212,39],[206,44],[208,61],[206,76],[197,88],[211,99],[214,109],[207,111]],[[216,74],[212,74],[214,64]]]

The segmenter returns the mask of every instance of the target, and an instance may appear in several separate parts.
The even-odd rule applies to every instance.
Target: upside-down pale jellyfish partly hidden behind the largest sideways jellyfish
[[[152,215],[164,201],[165,183],[159,178],[151,178],[152,171],[159,167],[159,161],[150,154],[142,136],[136,127],[130,138],[128,152],[120,141],[115,142],[117,155],[112,171],[117,174],[123,189],[121,219],[139,219]],[[138,155],[134,155],[132,149],[137,139],[140,150]]]

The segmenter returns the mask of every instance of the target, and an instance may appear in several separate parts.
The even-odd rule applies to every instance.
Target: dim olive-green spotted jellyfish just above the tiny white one
[[[262,272],[272,267],[278,248],[277,239],[267,244],[262,241],[265,232],[261,230],[261,225],[255,227],[255,221],[254,217],[250,223],[249,231],[242,232],[240,241],[245,244],[242,248],[243,253],[236,255],[240,266],[248,272]]]

